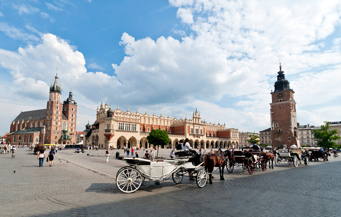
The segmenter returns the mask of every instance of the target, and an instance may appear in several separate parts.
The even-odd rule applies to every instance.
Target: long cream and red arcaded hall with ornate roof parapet
[[[201,120],[200,113],[193,112],[192,119],[170,118],[141,114],[138,110],[131,113],[129,109],[123,112],[117,107],[111,110],[109,105],[101,104],[97,108],[96,120],[92,125],[87,124],[84,132],[85,145],[97,145],[99,148],[133,146],[153,148],[149,144],[147,136],[152,129],[165,130],[170,142],[161,148],[171,148],[189,138],[193,148],[230,148],[237,147],[239,143],[238,129],[225,128],[225,124],[211,124]]]

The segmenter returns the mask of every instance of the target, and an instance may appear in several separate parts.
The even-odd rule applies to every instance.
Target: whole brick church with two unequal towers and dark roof
[[[8,141],[16,145],[31,143],[74,144],[76,142],[77,103],[69,97],[61,101],[62,88],[51,83],[46,109],[21,112],[12,122]]]

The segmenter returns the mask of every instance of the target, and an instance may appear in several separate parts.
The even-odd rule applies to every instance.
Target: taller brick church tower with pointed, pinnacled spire
[[[58,69],[57,69],[58,70]],[[46,105],[46,133],[44,141],[45,144],[58,144],[61,132],[62,122],[62,103],[60,101],[62,88],[58,83],[58,71],[55,76],[55,82],[50,85],[49,101]]]

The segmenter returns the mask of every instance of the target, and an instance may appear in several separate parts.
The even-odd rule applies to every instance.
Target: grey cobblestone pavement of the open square
[[[38,167],[37,156],[24,148],[14,159],[0,154],[0,216],[341,216],[340,159],[297,168],[282,162],[253,175],[236,167],[225,169],[225,181],[216,175],[204,188],[170,178],[127,194],[115,183],[124,161],[106,163],[104,150],[90,151],[58,151],[53,167],[46,161]]]

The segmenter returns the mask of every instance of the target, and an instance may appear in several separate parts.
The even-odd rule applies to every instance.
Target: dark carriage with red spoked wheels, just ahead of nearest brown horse
[[[244,170],[248,169],[248,172],[252,175],[258,163],[261,164],[262,170],[264,171],[266,170],[266,161],[265,159],[261,159],[260,155],[261,151],[259,149],[233,150],[228,155],[226,169],[231,173],[235,166],[241,166]]]

